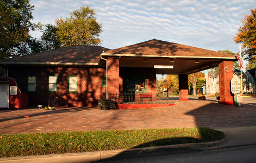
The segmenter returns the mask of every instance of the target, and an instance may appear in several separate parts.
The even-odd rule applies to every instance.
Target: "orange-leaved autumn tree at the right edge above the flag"
[[[256,8],[251,9],[251,15],[244,15],[241,20],[242,26],[238,28],[234,41],[242,43],[243,49],[247,54],[246,59],[255,60],[256,57]]]

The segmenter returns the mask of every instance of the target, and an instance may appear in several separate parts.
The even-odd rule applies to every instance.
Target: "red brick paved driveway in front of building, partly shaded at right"
[[[256,104],[176,101],[166,108],[101,111],[98,108],[0,110],[0,134],[74,130],[256,126]],[[29,115],[29,118],[24,116]]]

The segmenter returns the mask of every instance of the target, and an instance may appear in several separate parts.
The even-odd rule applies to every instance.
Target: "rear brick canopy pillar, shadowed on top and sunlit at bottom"
[[[179,100],[189,101],[189,86],[187,74],[179,74]]]

